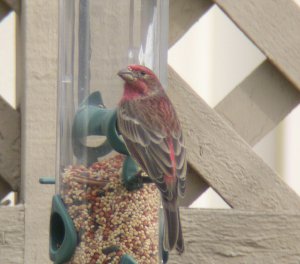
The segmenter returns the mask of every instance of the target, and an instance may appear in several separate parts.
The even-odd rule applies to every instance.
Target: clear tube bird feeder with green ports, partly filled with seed
[[[166,87],[168,1],[60,0],[55,263],[166,263],[160,196],[116,127],[119,69],[151,68]]]

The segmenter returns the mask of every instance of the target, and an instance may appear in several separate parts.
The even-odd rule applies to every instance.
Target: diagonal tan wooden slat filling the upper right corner
[[[214,1],[300,89],[300,6],[292,0]]]

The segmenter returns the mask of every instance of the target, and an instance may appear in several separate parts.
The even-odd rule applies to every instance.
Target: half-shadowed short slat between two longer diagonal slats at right
[[[299,103],[299,90],[265,61],[214,109],[254,146]]]

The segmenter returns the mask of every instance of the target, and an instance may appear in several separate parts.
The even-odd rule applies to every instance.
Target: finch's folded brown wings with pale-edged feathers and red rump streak
[[[131,156],[153,179],[165,198],[171,200],[177,189],[183,196],[186,158],[181,130],[168,135],[155,122],[147,123],[149,118],[142,115],[142,111],[137,112],[130,105],[118,109],[118,128]],[[170,182],[166,181],[166,175]]]

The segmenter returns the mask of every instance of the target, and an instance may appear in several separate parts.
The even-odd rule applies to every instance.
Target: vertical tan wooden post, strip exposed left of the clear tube
[[[22,1],[22,192],[25,264],[50,263],[53,186],[39,178],[55,171],[58,1]]]

